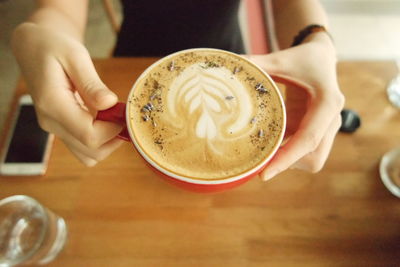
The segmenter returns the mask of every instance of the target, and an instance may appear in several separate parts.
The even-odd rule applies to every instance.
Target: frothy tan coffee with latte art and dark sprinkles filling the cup
[[[244,174],[282,138],[284,107],[273,82],[221,50],[187,50],[158,61],[138,79],[128,102],[128,128],[139,151],[183,177]]]

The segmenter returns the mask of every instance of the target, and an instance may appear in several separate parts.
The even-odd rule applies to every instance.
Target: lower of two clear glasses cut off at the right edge
[[[386,188],[400,198],[400,147],[382,157],[379,172]]]

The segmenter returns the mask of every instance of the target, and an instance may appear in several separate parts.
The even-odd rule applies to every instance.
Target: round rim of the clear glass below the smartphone
[[[34,247],[30,250],[30,252],[28,254],[25,255],[25,257],[22,257],[22,258],[19,258],[19,259],[16,259],[16,260],[14,259],[11,262],[11,266],[23,263],[23,262],[31,259],[35,255],[35,253],[40,249],[40,246],[43,243],[43,240],[44,240],[44,238],[46,236],[46,229],[49,226],[49,218],[48,218],[48,215],[46,213],[45,208],[43,207],[42,204],[39,203],[39,201],[37,201],[36,199],[34,199],[32,197],[29,197],[29,196],[26,196],[26,195],[9,196],[9,197],[6,197],[6,198],[3,198],[3,199],[0,200],[0,207],[5,205],[5,204],[9,204],[9,203],[12,203],[12,202],[15,202],[15,201],[28,201],[28,202],[32,203],[33,206],[38,207],[39,212],[43,215],[44,227],[42,227],[42,229],[40,231],[40,236],[39,236],[39,239],[38,239],[39,242],[37,242],[34,245]]]

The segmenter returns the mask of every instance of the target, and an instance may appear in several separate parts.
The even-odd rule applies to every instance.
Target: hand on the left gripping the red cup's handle
[[[122,126],[94,119],[118,98],[101,81],[80,42],[27,22],[14,31],[12,47],[44,130],[62,139],[87,166],[122,144],[116,138]]]

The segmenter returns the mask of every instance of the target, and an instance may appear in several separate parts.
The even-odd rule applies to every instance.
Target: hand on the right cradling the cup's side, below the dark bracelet
[[[288,168],[318,172],[341,125],[344,96],[336,79],[336,54],[325,33],[299,46],[262,56],[247,56],[287,87],[288,141],[261,173],[268,180]],[[293,86],[296,85],[296,86]]]

